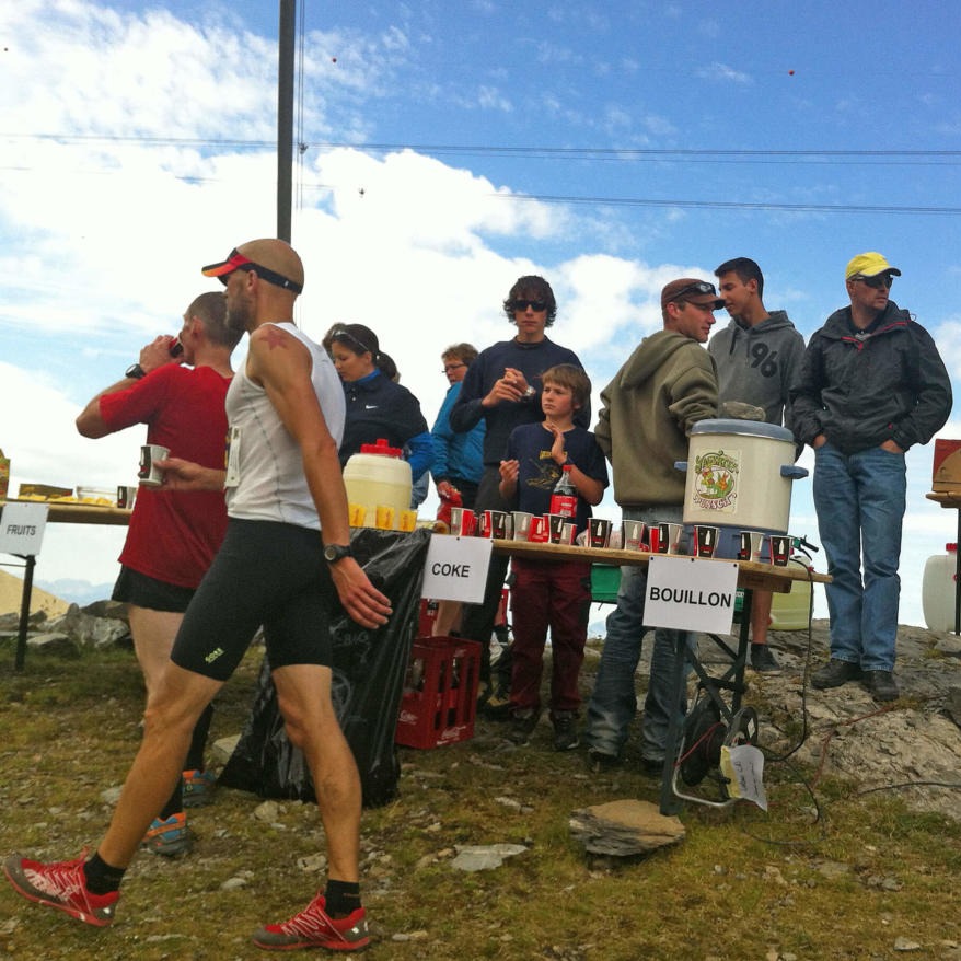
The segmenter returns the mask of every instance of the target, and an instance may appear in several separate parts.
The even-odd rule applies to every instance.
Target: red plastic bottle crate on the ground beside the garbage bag
[[[419,637],[404,679],[395,740],[439,748],[474,737],[480,645],[460,637]]]

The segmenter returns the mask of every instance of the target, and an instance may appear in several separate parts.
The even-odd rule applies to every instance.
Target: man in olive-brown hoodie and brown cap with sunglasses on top
[[[661,291],[663,331],[645,337],[601,392],[594,436],[611,461],[614,499],[625,520],[681,522],[685,478],[674,463],[687,459],[691,428],[717,416],[714,361],[701,345],[714,325],[714,311],[722,306],[713,283],[690,277],[672,280]],[[634,674],[647,632],[646,592],[646,569],[622,567],[617,606],[607,617],[607,636],[588,705],[584,740],[592,764],[599,767],[620,760],[637,708]],[[681,634],[693,644],[693,635]],[[680,641],[676,630],[655,630],[640,746],[641,764],[648,771],[660,771],[668,762],[671,715],[683,717],[686,709],[672,685]]]

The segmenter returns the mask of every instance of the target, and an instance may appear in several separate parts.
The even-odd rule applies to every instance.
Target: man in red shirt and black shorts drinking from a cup
[[[230,355],[242,332],[227,325],[222,293],[201,293],[184,314],[177,338],[157,337],[123,380],[101,391],[77,418],[84,437],[106,437],[147,425],[147,443],[208,467],[223,466],[227,415],[223,402],[232,370]],[[176,343],[182,352],[172,346]],[[170,660],[184,611],[210,566],[227,530],[223,495],[141,486],[113,599],[128,605],[130,633],[148,696]],[[212,777],[204,771],[210,707],[194,730],[184,780],[177,785],[144,837],[157,854],[189,848],[184,803],[202,803]]]

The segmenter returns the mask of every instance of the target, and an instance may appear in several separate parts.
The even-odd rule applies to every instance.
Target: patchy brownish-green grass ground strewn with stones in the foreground
[[[123,650],[31,652],[14,674],[9,645],[0,664],[0,854],[72,857],[96,844],[109,817],[101,792],[120,784],[136,751],[139,670]],[[252,651],[224,688],[211,742],[241,729],[258,667]],[[898,938],[921,946],[910,957],[961,957],[961,824],[946,815],[825,779],[815,820],[801,781],[813,772],[772,765],[768,814],[688,804],[680,845],[647,858],[590,857],[569,833],[570,812],[618,798],[656,804],[657,781],[630,765],[589,774],[580,751],[551,750],[546,723],[522,750],[500,730],[480,722],[470,742],[400,749],[397,799],[363,819],[368,957],[861,961],[903,957]],[[312,806],[279,802],[265,822],[253,815],[259,803],[222,789],[192,815],[188,858],[138,858],[107,930],[3,884],[0,959],[262,957],[250,934],[305,903],[316,871],[298,859],[323,838]],[[498,842],[528,850],[491,871],[451,868],[458,845]],[[246,884],[225,890],[231,878]]]

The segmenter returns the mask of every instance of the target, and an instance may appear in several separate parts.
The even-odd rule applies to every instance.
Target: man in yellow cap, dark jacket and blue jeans
[[[889,299],[900,276],[875,252],[850,260],[850,306],[811,337],[791,389],[795,436],[814,449],[814,509],[833,578],[831,660],[811,683],[861,680],[876,701],[899,695],[904,452],[927,443],[951,413],[951,382],[935,341]]]

